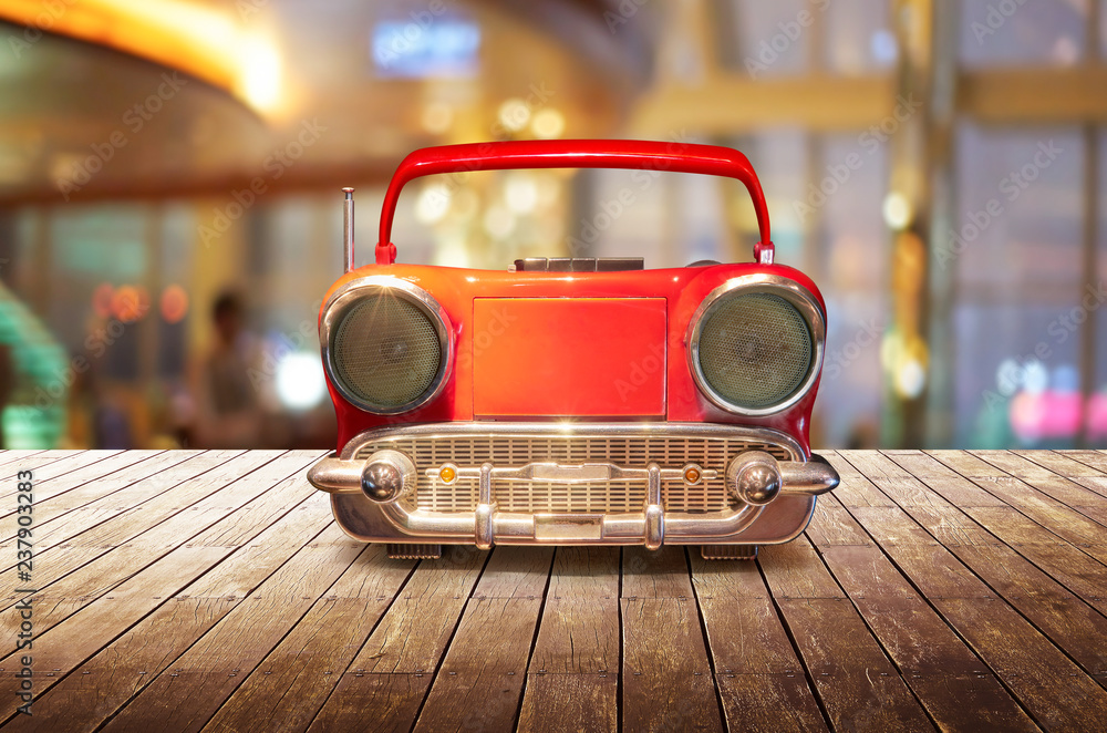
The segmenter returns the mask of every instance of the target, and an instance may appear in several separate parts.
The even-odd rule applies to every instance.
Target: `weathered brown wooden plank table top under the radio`
[[[841,486],[755,561],[390,560],[320,455],[0,452],[0,729],[1107,730],[1107,452],[826,453]]]

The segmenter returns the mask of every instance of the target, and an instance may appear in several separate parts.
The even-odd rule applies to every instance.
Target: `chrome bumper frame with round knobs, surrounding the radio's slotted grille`
[[[497,466],[488,461],[480,465],[443,463],[437,467],[422,466],[417,469],[411,458],[393,447],[413,437],[435,441],[489,434],[568,436],[575,441],[627,435],[674,440],[725,438],[754,447],[730,456],[725,476],[734,494],[733,503],[722,510],[699,514],[666,512],[662,502],[662,481],[696,484],[716,479],[723,472],[695,464],[676,468],[662,467],[655,462],[645,466],[622,466],[612,462],[549,461],[520,466]],[[756,450],[759,446],[772,446],[777,453],[785,448],[793,460],[778,460],[766,451]],[[369,451],[372,452],[366,456]],[[817,455],[805,457],[795,441],[767,429],[697,423],[604,423],[575,424],[571,427],[548,423],[448,423],[363,433],[350,441],[341,456],[315,463],[308,472],[308,479],[330,494],[360,495],[395,528],[397,538],[411,538],[412,541],[475,543],[482,549],[488,549],[494,544],[644,544],[650,549],[656,549],[666,538],[684,543],[733,538],[747,528],[769,503],[788,496],[813,497],[838,485],[838,474],[830,464]],[[433,479],[443,476],[446,467],[452,472],[449,479],[444,481],[446,484],[477,479],[475,510],[434,512],[420,508],[413,500],[418,475]],[[689,473],[690,468],[695,473]],[[394,484],[391,489],[390,481]],[[644,483],[645,502],[641,512],[630,513],[499,512],[493,497],[493,485],[497,481],[565,485],[615,481],[623,485]]]

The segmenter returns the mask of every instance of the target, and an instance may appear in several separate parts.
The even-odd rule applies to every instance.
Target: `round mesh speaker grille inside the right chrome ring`
[[[784,402],[811,366],[811,332],[796,307],[765,292],[732,296],[700,332],[700,369],[726,402],[761,410]]]

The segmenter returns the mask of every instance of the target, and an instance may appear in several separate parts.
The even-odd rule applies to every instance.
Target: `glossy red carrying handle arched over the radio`
[[[392,219],[400,192],[407,182],[438,173],[468,171],[509,171],[517,168],[643,168],[702,173],[736,178],[745,184],[754,200],[761,241],[754,245],[754,259],[773,261],[768,207],[761,180],[746,156],[730,147],[660,143],[637,140],[555,140],[470,143],[424,147],[410,154],[396,168],[381,208],[381,238],[376,244],[376,264],[396,261],[392,244]]]

